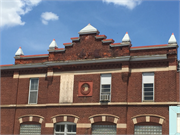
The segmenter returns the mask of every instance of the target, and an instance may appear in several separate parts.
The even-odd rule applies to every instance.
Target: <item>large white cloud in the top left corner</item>
[[[37,6],[41,0],[0,0],[0,27],[24,25],[21,16]]]

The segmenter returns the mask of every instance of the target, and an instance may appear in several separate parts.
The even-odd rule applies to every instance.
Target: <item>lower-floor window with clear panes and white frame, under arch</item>
[[[76,124],[72,122],[60,122],[54,126],[54,135],[75,135]]]

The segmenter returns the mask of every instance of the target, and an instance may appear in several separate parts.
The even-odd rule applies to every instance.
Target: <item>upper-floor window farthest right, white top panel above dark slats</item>
[[[143,101],[154,101],[154,73],[143,73],[142,75],[142,99]]]

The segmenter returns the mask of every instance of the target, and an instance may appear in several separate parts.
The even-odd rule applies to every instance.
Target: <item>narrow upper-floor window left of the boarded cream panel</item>
[[[29,104],[37,104],[38,97],[38,78],[31,78],[29,84]]]

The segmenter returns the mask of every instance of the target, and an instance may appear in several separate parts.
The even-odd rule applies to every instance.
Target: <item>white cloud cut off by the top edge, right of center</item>
[[[115,5],[125,6],[129,9],[133,9],[137,5],[141,4],[142,0],[103,0],[106,3],[114,3]]]

